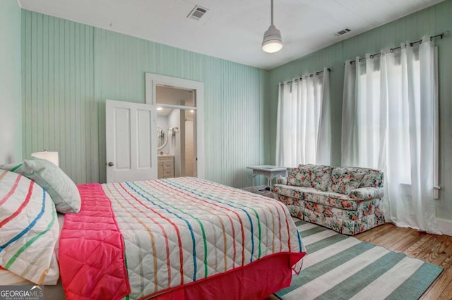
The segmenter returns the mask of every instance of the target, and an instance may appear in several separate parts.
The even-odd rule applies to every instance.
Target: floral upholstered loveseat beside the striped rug
[[[273,186],[273,196],[291,215],[345,235],[384,223],[383,194],[381,171],[328,165],[287,168],[287,177]]]

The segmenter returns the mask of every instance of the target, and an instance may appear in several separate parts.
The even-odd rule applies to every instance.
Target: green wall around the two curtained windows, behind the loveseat
[[[452,0],[447,0],[423,11],[413,13],[369,32],[351,37],[343,42],[316,51],[270,70],[270,161],[275,161],[275,124],[278,104],[278,82],[290,80],[305,73],[333,67],[331,82],[331,122],[333,165],[340,165],[340,135],[343,101],[344,62],[356,56],[379,52],[383,47],[398,46],[401,42],[420,39],[422,35],[436,35],[446,30],[452,32]],[[437,216],[452,220],[452,36],[435,39],[439,47],[439,165],[441,186],[437,202]]]

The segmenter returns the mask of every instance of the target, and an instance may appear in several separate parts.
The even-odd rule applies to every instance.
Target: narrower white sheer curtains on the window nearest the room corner
[[[329,165],[331,161],[330,83],[322,73],[280,84],[276,164]]]

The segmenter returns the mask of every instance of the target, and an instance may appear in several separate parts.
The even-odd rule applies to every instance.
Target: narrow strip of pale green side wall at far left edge
[[[0,164],[22,161],[20,7],[0,1]]]

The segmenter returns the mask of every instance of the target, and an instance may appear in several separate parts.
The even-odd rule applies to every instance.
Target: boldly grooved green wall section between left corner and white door
[[[23,154],[58,151],[77,183],[98,176],[92,142],[93,27],[22,11]]]

